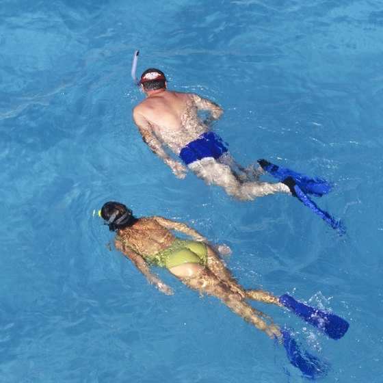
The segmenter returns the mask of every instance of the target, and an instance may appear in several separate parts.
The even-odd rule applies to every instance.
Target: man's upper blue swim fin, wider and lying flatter
[[[257,162],[263,170],[274,176],[278,181],[292,177],[295,183],[306,194],[320,197],[323,196],[323,194],[328,194],[331,190],[330,183],[324,179],[305,176],[304,174],[294,172],[293,170],[283,168],[282,166],[274,165],[274,163],[265,159],[259,159]]]

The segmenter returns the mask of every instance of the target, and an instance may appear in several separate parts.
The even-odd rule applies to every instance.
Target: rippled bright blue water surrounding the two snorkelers
[[[107,200],[182,220],[233,249],[246,288],[330,309],[332,341],[279,308],[332,369],[381,382],[383,11],[344,0],[3,0],[0,7],[0,382],[304,382],[282,347],[166,271],[146,284],[92,217]],[[236,202],[148,150],[130,78],[157,66],[172,90],[225,115],[242,163],[264,157],[332,181],[315,200],[339,237],[285,194]]]

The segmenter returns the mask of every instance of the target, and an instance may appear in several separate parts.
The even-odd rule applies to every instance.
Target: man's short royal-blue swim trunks
[[[227,143],[219,135],[213,132],[202,133],[197,140],[189,142],[181,149],[179,157],[186,165],[202,158],[218,159],[228,151],[225,145]]]

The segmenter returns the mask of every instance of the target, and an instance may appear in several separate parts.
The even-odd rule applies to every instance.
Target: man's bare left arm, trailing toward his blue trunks
[[[187,169],[181,162],[176,161],[166,152],[161,144],[161,141],[153,133],[153,127],[149,124],[148,120],[146,120],[146,118],[144,118],[144,116],[142,116],[142,114],[137,112],[135,109],[133,109],[133,120],[142,135],[142,139],[153,151],[153,153],[161,158],[162,161],[172,169],[172,172],[178,178],[184,178]]]

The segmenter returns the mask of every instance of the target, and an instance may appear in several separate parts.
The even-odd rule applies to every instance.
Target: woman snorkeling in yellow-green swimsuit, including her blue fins
[[[107,202],[99,212],[110,230],[117,232],[114,244],[160,291],[172,294],[150,269],[165,267],[191,289],[219,298],[231,311],[266,332],[284,345],[294,367],[310,378],[326,375],[328,365],[302,351],[285,328],[279,328],[271,317],[256,310],[246,300],[284,306],[332,339],[340,339],[349,327],[347,321],[318,308],[296,301],[288,294],[279,298],[263,290],[245,290],[231,276],[217,254],[200,233],[193,228],[154,215],[136,218],[124,204]],[[193,240],[175,237],[175,230]]]

